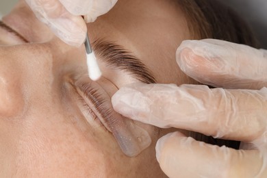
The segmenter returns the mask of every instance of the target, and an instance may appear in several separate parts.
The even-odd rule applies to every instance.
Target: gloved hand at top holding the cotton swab
[[[79,47],[86,39],[86,23],[108,12],[117,0],[25,1],[37,18],[47,24],[56,36],[67,44]]]

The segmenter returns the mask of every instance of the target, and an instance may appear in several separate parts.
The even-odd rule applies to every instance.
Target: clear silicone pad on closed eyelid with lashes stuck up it
[[[112,132],[125,155],[134,157],[149,147],[151,144],[149,133],[133,123],[133,120],[115,112],[110,96],[97,82],[83,77],[75,82],[75,86],[88,107],[101,120],[101,123]]]

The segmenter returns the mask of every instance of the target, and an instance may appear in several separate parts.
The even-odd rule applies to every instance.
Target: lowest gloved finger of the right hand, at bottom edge
[[[157,161],[168,177],[266,177],[259,151],[238,151],[198,142],[179,132],[160,138]],[[262,172],[260,172],[262,171]]]

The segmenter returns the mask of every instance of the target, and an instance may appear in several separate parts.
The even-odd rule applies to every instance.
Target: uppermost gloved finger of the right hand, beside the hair
[[[186,40],[176,53],[181,70],[197,81],[223,88],[267,86],[267,52],[223,40]]]

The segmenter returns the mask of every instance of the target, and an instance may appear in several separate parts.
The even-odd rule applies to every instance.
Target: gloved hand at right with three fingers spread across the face
[[[156,145],[168,177],[267,177],[266,54],[220,40],[184,41],[177,49],[182,71],[203,84],[231,89],[132,84],[120,88],[112,104],[116,112],[143,123],[246,146],[236,150],[168,133]]]

